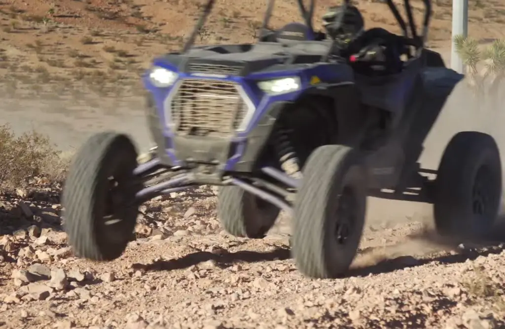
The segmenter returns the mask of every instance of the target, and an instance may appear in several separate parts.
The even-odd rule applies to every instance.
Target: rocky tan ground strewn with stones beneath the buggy
[[[57,192],[2,202],[0,327],[505,327],[500,243],[442,244],[423,223],[374,222],[345,278],[310,280],[289,257],[286,216],[263,240],[235,238],[200,189],[143,206],[136,241],[96,263],[67,245]]]

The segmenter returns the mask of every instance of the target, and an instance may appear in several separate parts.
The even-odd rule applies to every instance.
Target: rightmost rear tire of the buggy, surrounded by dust
[[[491,136],[466,131],[452,137],[435,181],[437,231],[455,238],[490,234],[498,216],[501,175],[498,146]]]

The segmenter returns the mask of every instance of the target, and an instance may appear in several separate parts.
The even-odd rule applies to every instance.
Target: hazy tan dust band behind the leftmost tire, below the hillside
[[[45,134],[63,151],[75,150],[92,134],[105,130],[127,133],[139,150],[148,149],[143,98],[94,100],[96,106],[72,99],[0,99],[0,125],[10,124],[16,134],[32,130]]]

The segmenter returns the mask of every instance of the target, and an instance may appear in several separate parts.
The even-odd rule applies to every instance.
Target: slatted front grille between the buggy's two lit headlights
[[[185,79],[174,92],[170,117],[180,135],[230,135],[247,113],[247,105],[231,81]]]

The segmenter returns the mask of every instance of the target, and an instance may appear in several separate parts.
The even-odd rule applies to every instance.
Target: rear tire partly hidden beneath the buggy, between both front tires
[[[238,186],[219,189],[218,215],[223,228],[233,236],[264,238],[279,212],[277,206]]]

